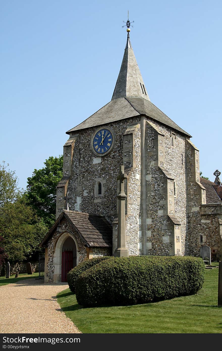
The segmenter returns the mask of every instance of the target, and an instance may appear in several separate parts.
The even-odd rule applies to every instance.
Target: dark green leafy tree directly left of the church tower
[[[34,170],[27,180],[27,201],[44,223],[50,227],[55,221],[56,185],[62,178],[63,157],[49,157],[45,167]]]

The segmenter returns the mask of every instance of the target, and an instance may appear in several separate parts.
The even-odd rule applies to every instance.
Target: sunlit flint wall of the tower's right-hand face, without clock
[[[170,201],[174,201],[174,215],[181,222],[181,249],[175,254],[187,254],[187,217],[186,217],[186,179],[185,179],[185,137],[167,126],[156,121],[147,119],[158,130],[164,134],[164,141],[159,140],[158,148],[164,146],[164,152],[159,151],[158,157],[153,154],[156,150],[155,131],[146,125],[147,140],[147,247],[148,254],[166,255],[170,254],[172,248],[171,238],[173,236],[172,223],[168,217],[167,207]],[[171,146],[171,135],[175,134],[175,145]],[[161,152],[162,151],[162,152]],[[176,196],[170,197],[167,204],[166,176],[158,167],[166,168],[174,178],[176,185]],[[172,199],[171,199],[172,198]],[[169,237],[169,239],[167,238]],[[178,239],[177,239],[178,240]]]

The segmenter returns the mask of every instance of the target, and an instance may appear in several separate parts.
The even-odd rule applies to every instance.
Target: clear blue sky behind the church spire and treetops
[[[110,101],[126,28],[150,100],[221,163],[221,1],[1,1],[0,161],[25,188],[67,130]]]

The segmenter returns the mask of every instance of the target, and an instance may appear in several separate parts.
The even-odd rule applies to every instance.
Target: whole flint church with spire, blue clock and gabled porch
[[[206,244],[222,254],[220,172],[200,177],[199,150],[150,101],[127,32],[111,101],[66,132],[56,221],[41,243],[46,282],[121,250],[200,256]]]

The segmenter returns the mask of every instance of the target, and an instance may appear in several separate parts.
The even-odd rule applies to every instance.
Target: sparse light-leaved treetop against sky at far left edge
[[[10,171],[5,161],[0,164],[0,206],[6,202],[12,202],[18,193],[17,177],[14,171]]]

